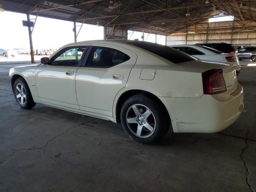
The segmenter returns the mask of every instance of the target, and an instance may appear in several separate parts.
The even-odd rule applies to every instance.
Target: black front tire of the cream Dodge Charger
[[[16,88],[18,86],[23,86],[23,91],[22,91],[22,95],[26,96],[26,98],[23,100],[23,102],[21,101],[21,98],[17,98],[17,95],[20,93],[18,91],[18,89]],[[20,87],[19,87],[20,88]],[[21,89],[21,88],[20,88]],[[14,86],[13,86],[13,93],[14,93],[14,97],[15,100],[17,101],[18,105],[22,108],[22,109],[31,109],[32,107],[34,107],[36,105],[36,103],[34,102],[30,89],[28,87],[28,84],[26,83],[26,81],[24,80],[24,78],[18,78],[15,82],[14,82]],[[21,93],[20,93],[21,94]],[[23,103],[23,104],[22,104]]]

